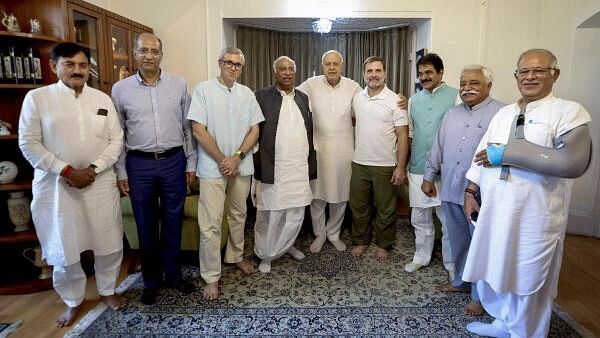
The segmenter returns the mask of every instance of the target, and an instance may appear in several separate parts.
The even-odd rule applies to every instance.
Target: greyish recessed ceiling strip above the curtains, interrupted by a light
[[[312,22],[316,18],[227,18],[225,22],[233,26],[249,26],[283,32],[312,32]],[[331,25],[331,32],[356,32],[414,25],[429,19],[410,18],[337,18]]]

